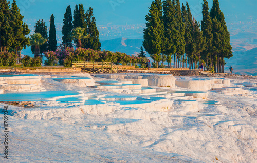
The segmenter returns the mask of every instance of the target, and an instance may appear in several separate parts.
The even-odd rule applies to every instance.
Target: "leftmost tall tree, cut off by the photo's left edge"
[[[0,16],[0,51],[2,51],[2,47],[4,51],[8,51],[10,46],[13,44],[13,28],[11,26],[11,11],[9,2],[7,3],[6,0],[0,1],[0,9],[1,15]]]

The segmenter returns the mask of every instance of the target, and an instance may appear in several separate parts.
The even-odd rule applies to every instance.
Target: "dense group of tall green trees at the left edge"
[[[11,7],[6,0],[0,1],[0,52],[15,51],[15,54],[20,54],[23,48],[29,46],[26,35],[30,30],[23,18],[15,0]]]

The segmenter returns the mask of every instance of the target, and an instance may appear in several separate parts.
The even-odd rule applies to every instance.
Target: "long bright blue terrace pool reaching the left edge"
[[[0,94],[0,101],[41,101],[46,98],[78,95],[75,91],[47,91],[33,93],[4,93]]]

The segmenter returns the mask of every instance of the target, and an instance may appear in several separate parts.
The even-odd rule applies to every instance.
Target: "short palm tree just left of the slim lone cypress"
[[[40,46],[43,45],[47,40],[42,37],[40,33],[34,33],[30,35],[30,45],[35,46],[35,57],[40,56]]]

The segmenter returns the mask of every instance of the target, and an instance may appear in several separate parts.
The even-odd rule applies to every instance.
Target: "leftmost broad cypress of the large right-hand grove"
[[[149,8],[149,14],[145,16],[146,29],[144,29],[143,46],[154,59],[155,63],[160,61],[160,53],[162,52],[161,35],[163,32],[162,21],[160,19],[160,11],[156,3],[161,3],[158,0],[152,2]]]

